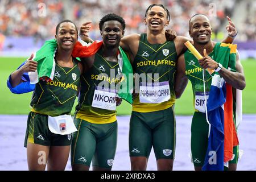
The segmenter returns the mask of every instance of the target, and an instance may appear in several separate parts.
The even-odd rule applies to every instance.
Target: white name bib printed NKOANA
[[[112,89],[96,89],[94,90],[93,95],[93,107],[98,107],[100,109],[106,110],[115,110],[117,107],[115,104],[115,97],[117,96],[117,92]]]

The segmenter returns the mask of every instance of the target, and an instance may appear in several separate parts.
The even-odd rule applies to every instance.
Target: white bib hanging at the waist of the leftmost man
[[[52,133],[68,135],[77,131],[71,115],[48,116],[48,127]]]

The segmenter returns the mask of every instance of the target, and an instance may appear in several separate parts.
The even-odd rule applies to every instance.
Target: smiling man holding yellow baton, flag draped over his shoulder
[[[211,34],[212,28],[207,16],[203,14],[192,16],[191,20],[189,20],[189,35],[193,38],[195,48],[201,55],[204,55],[204,58],[197,61],[196,57],[193,56],[191,52],[187,51],[184,55],[179,57],[177,62],[175,82],[176,97],[179,98],[181,96],[188,79],[191,81],[193,88],[195,113],[191,126],[191,151],[195,170],[201,170],[208,145],[209,125],[205,116],[203,73],[206,95],[210,90],[212,76],[210,76],[207,71],[204,71],[204,69],[214,69],[218,71],[220,76],[223,77],[228,84],[232,85],[233,88],[241,90],[245,88],[245,76],[243,75],[243,68],[237,50],[231,50],[234,53],[237,52],[237,72],[229,71],[226,68],[218,68],[221,66],[216,61],[218,54],[217,48],[225,46],[225,44],[213,42],[210,39]],[[234,154],[236,155],[235,159],[229,163],[230,170],[236,170],[237,167],[237,147],[234,148]]]

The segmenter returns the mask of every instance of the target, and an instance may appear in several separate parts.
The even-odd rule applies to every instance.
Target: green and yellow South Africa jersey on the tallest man
[[[174,42],[150,44],[147,41],[147,34],[141,34],[138,53],[133,62],[133,70],[139,75],[141,75],[141,73],[146,74],[147,82],[150,80],[153,83],[158,82],[159,85],[169,85],[170,90],[167,90],[166,93],[164,93],[163,90],[161,91],[162,93],[160,93],[160,90],[158,92],[161,96],[169,94],[170,99],[160,103],[141,103],[138,96],[133,102],[133,111],[148,113],[164,110],[174,105],[174,75],[176,72],[176,60],[177,53]],[[155,73],[158,74],[158,76],[155,77]],[[142,80],[140,82],[142,82]],[[145,96],[148,96],[148,94],[154,93],[148,91],[143,93]]]

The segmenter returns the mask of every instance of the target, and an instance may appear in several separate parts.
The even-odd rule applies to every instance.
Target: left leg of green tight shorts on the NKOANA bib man
[[[90,166],[96,149],[96,137],[90,130],[92,123],[75,119],[77,131],[73,133],[71,143],[71,164]]]

